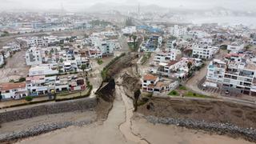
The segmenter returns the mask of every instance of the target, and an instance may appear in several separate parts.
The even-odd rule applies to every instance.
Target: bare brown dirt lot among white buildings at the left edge
[[[0,69],[0,82],[9,82],[10,79],[18,80],[18,78],[27,76],[30,66],[26,66],[26,51],[19,51],[11,58],[7,58],[6,66]]]

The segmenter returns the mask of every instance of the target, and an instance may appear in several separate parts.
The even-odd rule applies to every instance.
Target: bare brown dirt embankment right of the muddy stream
[[[256,128],[255,107],[230,102],[152,98],[146,105],[140,106],[138,112],[163,118],[190,118],[207,122],[228,122],[244,128]]]

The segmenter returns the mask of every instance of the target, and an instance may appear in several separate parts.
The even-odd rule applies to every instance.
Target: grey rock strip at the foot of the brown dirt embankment
[[[148,122],[154,124],[166,124],[183,126],[195,130],[206,130],[217,134],[228,134],[231,137],[242,137],[248,141],[256,142],[256,130],[253,128],[242,128],[234,126],[230,123],[214,123],[205,121],[196,121],[191,119],[177,119],[177,118],[157,118],[154,116],[145,116]]]

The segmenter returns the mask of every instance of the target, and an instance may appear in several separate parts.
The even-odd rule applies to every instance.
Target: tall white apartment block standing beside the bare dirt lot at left
[[[31,47],[26,51],[26,65],[36,66],[42,64],[42,54],[38,47]]]

